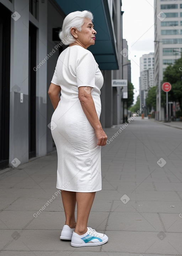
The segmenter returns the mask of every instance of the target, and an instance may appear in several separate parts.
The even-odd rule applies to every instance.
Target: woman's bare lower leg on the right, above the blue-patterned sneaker
[[[87,222],[96,192],[76,192],[77,220],[75,233],[83,235],[87,231]]]

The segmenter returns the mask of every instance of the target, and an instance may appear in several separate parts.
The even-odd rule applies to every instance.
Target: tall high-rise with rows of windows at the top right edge
[[[181,4],[180,4],[181,2]],[[182,52],[182,1],[155,0],[155,84],[157,85],[156,119],[164,120],[161,107],[161,81],[168,65],[173,65]]]

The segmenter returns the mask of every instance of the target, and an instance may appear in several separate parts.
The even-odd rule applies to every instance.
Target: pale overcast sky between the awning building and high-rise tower
[[[140,57],[154,52],[154,0],[122,0],[123,38],[128,41],[132,83],[139,95]]]

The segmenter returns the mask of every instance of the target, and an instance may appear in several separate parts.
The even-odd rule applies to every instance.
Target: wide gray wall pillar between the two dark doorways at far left
[[[28,161],[28,37],[29,1],[15,0],[13,9],[21,18],[11,19],[10,146],[9,164],[15,158]],[[23,10],[22,10],[23,9]],[[14,91],[14,86],[19,91]],[[23,103],[20,103],[23,93]]]

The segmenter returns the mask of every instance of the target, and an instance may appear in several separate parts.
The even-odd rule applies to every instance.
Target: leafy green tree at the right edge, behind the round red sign
[[[182,110],[182,57],[173,66],[166,67],[162,82],[170,82],[172,88],[168,92],[168,100],[178,101]]]

